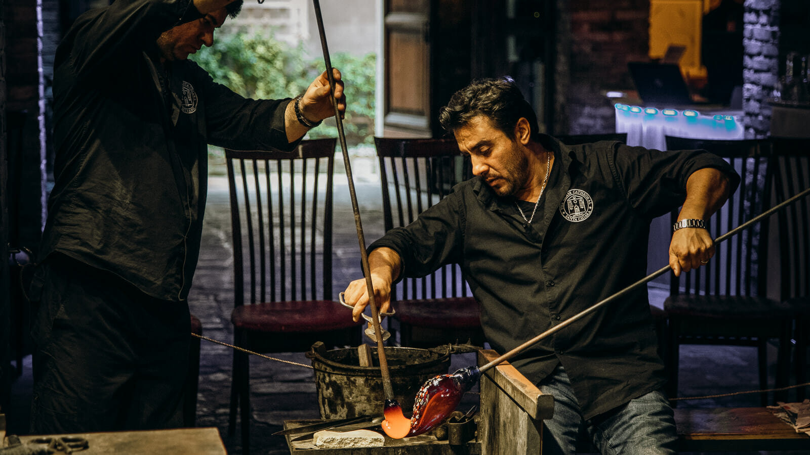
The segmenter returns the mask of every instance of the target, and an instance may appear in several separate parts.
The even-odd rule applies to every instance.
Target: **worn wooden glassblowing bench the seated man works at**
[[[478,364],[488,364],[498,357],[491,350],[479,351]],[[554,410],[551,395],[540,390],[508,362],[484,372],[480,380],[480,416],[477,437],[461,453],[482,455],[527,455],[542,453],[543,420]],[[759,450],[797,450],[810,453],[810,436],[797,433],[764,407],[675,409],[680,452],[734,452]],[[298,425],[311,423],[301,422]],[[286,423],[285,423],[286,427]],[[390,440],[386,446],[373,449],[317,449],[313,444],[295,446],[295,455],[445,455],[459,453],[447,441],[432,434]],[[590,445],[590,444],[584,444]],[[458,448],[455,448],[458,450]],[[585,447],[585,452],[588,449]]]

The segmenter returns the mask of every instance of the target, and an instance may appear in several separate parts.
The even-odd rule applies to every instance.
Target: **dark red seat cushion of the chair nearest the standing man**
[[[352,321],[352,310],[332,300],[295,300],[241,305],[233,308],[237,329],[274,333],[341,330],[363,322]]]

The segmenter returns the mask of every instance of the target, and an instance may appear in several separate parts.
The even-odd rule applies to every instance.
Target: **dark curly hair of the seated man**
[[[439,110],[439,123],[452,133],[480,115],[488,117],[508,138],[514,136],[518,119],[525,117],[529,121],[532,140],[539,139],[537,114],[509,76],[476,79],[456,91],[450,102]]]

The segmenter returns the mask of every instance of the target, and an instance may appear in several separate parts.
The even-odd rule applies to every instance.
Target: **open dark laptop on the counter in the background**
[[[693,100],[676,63],[629,62],[627,64],[638,96],[645,104],[661,108],[673,105],[703,104]]]

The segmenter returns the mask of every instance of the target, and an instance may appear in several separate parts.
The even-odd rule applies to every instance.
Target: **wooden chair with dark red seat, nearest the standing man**
[[[361,323],[332,292],[335,138],[302,141],[292,153],[225,151],[233,235],[234,342],[258,352],[360,344]],[[233,433],[241,410],[249,453],[249,361],[233,351]]]

